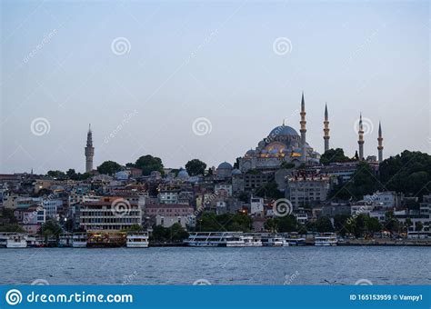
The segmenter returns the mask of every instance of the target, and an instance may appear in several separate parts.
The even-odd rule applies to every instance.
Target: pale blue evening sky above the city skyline
[[[0,173],[209,166],[285,120],[322,153],[431,151],[427,1],[2,1]]]

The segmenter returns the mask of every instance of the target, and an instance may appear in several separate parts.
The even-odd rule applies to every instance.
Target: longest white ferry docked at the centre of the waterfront
[[[246,245],[242,232],[195,232],[185,244],[194,247],[243,247]]]

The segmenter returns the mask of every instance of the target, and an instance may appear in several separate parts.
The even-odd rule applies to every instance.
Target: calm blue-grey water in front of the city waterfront
[[[0,284],[431,284],[431,247],[0,249]]]

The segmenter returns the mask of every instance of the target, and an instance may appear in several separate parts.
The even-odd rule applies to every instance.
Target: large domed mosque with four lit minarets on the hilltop
[[[265,170],[275,171],[282,167],[284,163],[314,165],[319,164],[320,154],[317,153],[312,146],[306,143],[306,102],[304,93],[301,98],[301,121],[300,130],[296,130],[288,125],[276,126],[269,135],[259,142],[255,149],[250,149],[246,154],[239,159],[239,170],[246,173],[249,170]],[[325,151],[329,150],[329,119],[327,106],[325,106],[324,117],[324,141]],[[364,159],[364,130],[362,125],[362,115],[359,122],[359,160]],[[382,133],[379,125],[378,138],[378,159],[381,162],[383,159]]]

